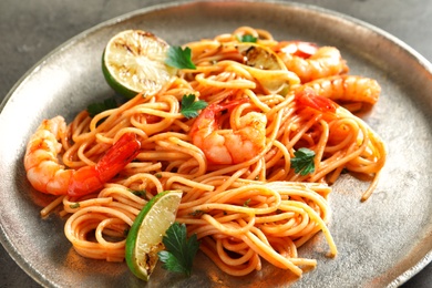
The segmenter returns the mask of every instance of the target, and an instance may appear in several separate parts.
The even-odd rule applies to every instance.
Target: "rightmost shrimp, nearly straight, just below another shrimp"
[[[363,102],[374,104],[381,93],[381,86],[376,80],[356,75],[336,75],[318,79],[302,84],[296,91],[305,89],[312,89],[323,97],[343,103]]]

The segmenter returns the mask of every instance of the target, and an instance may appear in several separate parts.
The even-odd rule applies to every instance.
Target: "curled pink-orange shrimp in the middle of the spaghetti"
[[[239,119],[239,126],[220,130],[219,114],[237,101],[208,105],[195,120],[192,142],[199,147],[207,161],[213,164],[237,164],[258,155],[266,145],[267,119],[258,112],[248,112]]]

